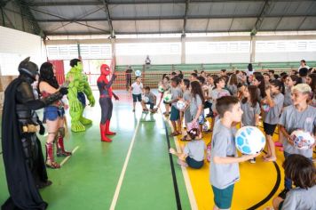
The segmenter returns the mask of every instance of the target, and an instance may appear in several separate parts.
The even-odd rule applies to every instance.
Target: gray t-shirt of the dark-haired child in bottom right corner
[[[307,190],[296,188],[287,193],[281,210],[314,210],[316,209],[316,185]]]

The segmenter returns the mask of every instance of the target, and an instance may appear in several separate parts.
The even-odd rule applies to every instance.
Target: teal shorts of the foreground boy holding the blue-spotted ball
[[[212,185],[214,193],[214,203],[220,209],[227,209],[232,206],[233,184],[225,189],[218,189]]]

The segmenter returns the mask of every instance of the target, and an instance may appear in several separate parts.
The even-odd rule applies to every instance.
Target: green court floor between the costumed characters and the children
[[[53,184],[40,192],[49,209],[177,209],[162,115],[143,115],[140,107],[133,113],[129,99],[115,101],[112,143],[100,141],[99,104],[86,109],[93,125],[65,141],[75,154],[60,169],[47,169]],[[39,137],[43,146],[45,137]],[[175,171],[180,205],[190,209],[181,168]],[[8,195],[1,158],[0,203]]]

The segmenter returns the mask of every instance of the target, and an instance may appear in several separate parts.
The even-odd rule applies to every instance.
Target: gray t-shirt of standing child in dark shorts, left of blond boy
[[[272,98],[274,102],[274,106],[269,109],[268,112],[265,113],[264,122],[271,125],[276,125],[279,123],[280,112],[283,108],[284,96],[282,93],[278,93],[274,95]]]

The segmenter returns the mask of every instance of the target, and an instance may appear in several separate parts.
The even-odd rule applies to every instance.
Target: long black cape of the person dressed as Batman
[[[23,82],[16,78],[4,92],[4,110],[2,116],[2,148],[7,185],[10,193],[1,209],[46,209],[45,203],[36,188],[34,176],[30,171],[22,149],[19,122],[16,114],[15,93],[17,87]],[[37,164],[43,164],[41,143],[39,146]],[[42,159],[41,159],[42,158]],[[36,168],[42,180],[47,180],[46,170],[43,166]]]

